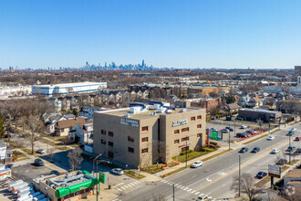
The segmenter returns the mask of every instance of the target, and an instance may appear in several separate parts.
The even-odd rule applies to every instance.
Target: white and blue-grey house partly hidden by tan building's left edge
[[[77,143],[93,143],[93,122],[76,123],[68,132],[68,138]]]

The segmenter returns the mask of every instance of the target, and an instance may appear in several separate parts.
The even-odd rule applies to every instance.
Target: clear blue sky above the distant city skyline
[[[299,0],[0,0],[0,68],[301,65]]]

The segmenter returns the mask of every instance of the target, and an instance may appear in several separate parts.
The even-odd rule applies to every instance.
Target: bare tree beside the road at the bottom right
[[[244,173],[241,175],[240,179],[238,175],[234,176],[234,182],[231,185],[231,190],[234,190],[236,193],[238,193],[239,184],[241,186],[241,193],[246,194],[250,201],[253,200],[254,196],[261,192],[260,189],[256,189],[256,180],[251,174]]]

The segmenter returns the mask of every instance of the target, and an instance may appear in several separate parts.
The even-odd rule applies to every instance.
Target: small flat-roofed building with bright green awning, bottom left
[[[52,201],[80,200],[92,196],[98,179],[86,171],[73,171],[63,175],[46,175],[33,180],[36,190]]]

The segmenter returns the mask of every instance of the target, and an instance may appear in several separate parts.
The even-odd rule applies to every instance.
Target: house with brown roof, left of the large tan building
[[[86,120],[84,118],[76,118],[71,120],[63,120],[57,122],[56,128],[55,128],[55,134],[57,136],[67,136],[68,132],[73,128],[73,126],[77,123],[85,123]]]

